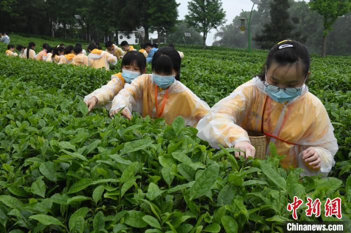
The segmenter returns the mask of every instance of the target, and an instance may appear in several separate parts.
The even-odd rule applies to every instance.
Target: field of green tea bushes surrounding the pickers
[[[186,55],[182,81],[211,106],[258,72],[266,56],[177,48]],[[349,221],[350,65],[349,57],[312,56],[308,85],[339,144],[334,177],[320,178],[283,169],[277,155],[233,160],[231,149],[211,148],[180,117],[167,125],[135,113],[110,118],[104,108],[87,113],[82,97],[117,70],[0,54],[0,231],[280,232],[295,194],[322,203],[341,197]],[[305,209],[300,220],[322,220]]]

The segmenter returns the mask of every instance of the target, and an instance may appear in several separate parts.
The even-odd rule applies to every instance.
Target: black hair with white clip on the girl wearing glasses
[[[285,65],[291,66],[297,64],[297,73],[306,77],[310,65],[310,56],[307,47],[296,40],[284,40],[284,42],[279,42],[271,48],[267,55],[266,63],[263,65],[261,72],[257,75],[262,81],[264,81],[266,71],[273,62],[278,64],[277,68]],[[300,67],[302,70],[300,70]]]

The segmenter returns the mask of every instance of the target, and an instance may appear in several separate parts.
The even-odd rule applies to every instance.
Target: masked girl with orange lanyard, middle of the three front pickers
[[[110,115],[124,107],[121,114],[129,119],[131,112],[137,111],[171,124],[181,115],[187,125],[196,126],[210,107],[179,81],[180,71],[179,53],[170,47],[159,49],[152,60],[152,74],[143,74],[124,86],[112,100]]]

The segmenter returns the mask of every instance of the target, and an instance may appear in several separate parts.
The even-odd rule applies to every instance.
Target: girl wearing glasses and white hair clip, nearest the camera
[[[322,102],[308,91],[309,52],[285,40],[268,53],[262,73],[220,100],[200,120],[198,136],[254,156],[248,131],[262,132],[274,142],[283,167],[301,167],[302,175],[327,175],[338,147]],[[267,148],[268,152],[268,148]],[[239,156],[239,152],[235,152]]]

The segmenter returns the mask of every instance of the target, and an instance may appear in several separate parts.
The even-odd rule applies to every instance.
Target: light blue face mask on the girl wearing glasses
[[[267,75],[265,80],[267,80]],[[277,102],[290,101],[301,95],[302,92],[302,87],[280,88],[279,86],[268,84],[266,81],[264,82],[264,86],[264,90],[268,93],[269,97]]]

